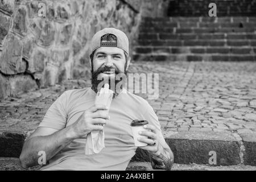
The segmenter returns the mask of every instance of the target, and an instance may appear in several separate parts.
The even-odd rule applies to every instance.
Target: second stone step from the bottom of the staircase
[[[141,53],[218,53],[218,54],[254,54],[256,53],[256,47],[237,47],[237,46],[227,46],[227,47],[210,47],[210,46],[184,46],[184,47],[156,47],[156,46],[137,46],[134,48],[133,54]]]

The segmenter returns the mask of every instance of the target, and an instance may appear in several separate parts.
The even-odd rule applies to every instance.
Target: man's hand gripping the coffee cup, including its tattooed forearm
[[[151,164],[154,169],[171,170],[174,163],[174,154],[168,146],[162,134],[156,131],[155,126],[145,125],[145,129],[150,131],[141,131],[140,135],[148,138],[138,138],[139,142],[147,143],[147,146],[139,147],[147,150],[151,154]]]

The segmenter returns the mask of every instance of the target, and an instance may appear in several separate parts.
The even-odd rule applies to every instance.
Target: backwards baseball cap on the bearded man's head
[[[117,43],[114,42],[101,42],[101,37],[106,34],[113,34],[117,37]],[[124,32],[118,30],[117,28],[104,28],[96,34],[93,35],[92,38],[92,51],[95,51],[100,47],[118,47],[123,49],[127,54],[129,54],[129,40]]]

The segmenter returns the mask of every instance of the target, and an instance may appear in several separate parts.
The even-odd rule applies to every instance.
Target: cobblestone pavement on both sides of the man
[[[159,73],[159,98],[148,102],[165,132],[256,131],[256,63],[152,61],[132,63],[130,72]],[[89,85],[89,77],[69,80],[1,101],[0,132],[36,129],[61,93]]]

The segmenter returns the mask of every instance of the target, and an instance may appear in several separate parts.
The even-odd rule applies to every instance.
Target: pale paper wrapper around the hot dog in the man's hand
[[[97,93],[95,99],[95,105],[105,105],[108,110],[113,98],[113,90],[109,90],[109,84],[105,84],[104,88]],[[85,155],[98,154],[103,148],[105,134],[103,131],[92,131],[87,135],[85,145]]]

